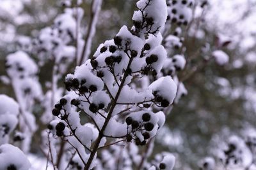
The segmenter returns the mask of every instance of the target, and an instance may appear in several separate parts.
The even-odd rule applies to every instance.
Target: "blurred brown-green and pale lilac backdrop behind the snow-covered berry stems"
[[[194,169],[198,160],[213,154],[218,143],[231,134],[243,135],[244,129],[254,128],[256,124],[256,1],[209,0],[201,8],[204,2],[196,1],[194,15],[198,18],[193,20],[192,29],[188,29],[185,57],[203,55],[198,49],[211,46],[227,52],[230,61],[225,66],[211,63],[184,82],[188,95],[173,107],[157,137],[154,152],[176,153],[179,169]],[[99,43],[113,38],[122,25],[132,24],[135,4],[135,0],[103,1],[92,53]],[[86,25],[90,1],[84,3],[83,8]],[[62,11],[63,7],[54,0],[0,0],[1,94],[14,97],[12,89],[4,85],[4,60],[19,46],[17,39],[33,38],[40,29],[52,25]],[[226,44],[220,47],[220,42]],[[36,56],[33,57],[36,60]],[[68,73],[74,71],[74,64]],[[51,69],[51,62],[42,69]],[[44,71],[41,74],[42,83],[51,80]],[[63,82],[60,81],[60,85]],[[37,109],[35,115],[39,120],[42,111]],[[36,145],[32,152],[39,154]]]

